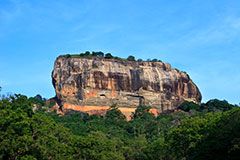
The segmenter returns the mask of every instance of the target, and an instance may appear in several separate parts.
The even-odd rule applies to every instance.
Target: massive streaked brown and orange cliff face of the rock
[[[159,113],[175,109],[184,100],[201,101],[188,74],[163,62],[59,56],[52,81],[63,110],[104,113],[117,104],[128,116],[141,104]]]

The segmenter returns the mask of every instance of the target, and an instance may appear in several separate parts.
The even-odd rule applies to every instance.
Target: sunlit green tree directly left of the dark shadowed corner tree
[[[179,125],[172,127],[166,135],[171,159],[186,159],[195,146],[209,134],[210,129],[218,122],[220,117],[221,114],[218,113],[207,114],[203,117],[189,117],[180,121]]]

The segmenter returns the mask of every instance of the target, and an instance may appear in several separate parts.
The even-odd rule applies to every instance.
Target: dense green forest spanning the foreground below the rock
[[[42,106],[33,110],[37,105]],[[40,96],[0,100],[0,159],[239,159],[240,109],[226,101],[183,103],[154,117],[139,106],[131,121],[113,106],[103,116],[46,112]],[[45,106],[46,107],[46,106]]]

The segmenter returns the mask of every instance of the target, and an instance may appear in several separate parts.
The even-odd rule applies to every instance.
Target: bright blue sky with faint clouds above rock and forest
[[[2,93],[54,96],[61,53],[158,58],[186,71],[203,101],[240,102],[239,0],[0,0]]]

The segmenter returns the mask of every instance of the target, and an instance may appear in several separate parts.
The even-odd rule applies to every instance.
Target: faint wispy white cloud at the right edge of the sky
[[[233,41],[239,38],[239,35],[240,17],[226,17],[202,29],[193,29],[174,43],[180,43],[186,47],[214,45]]]

